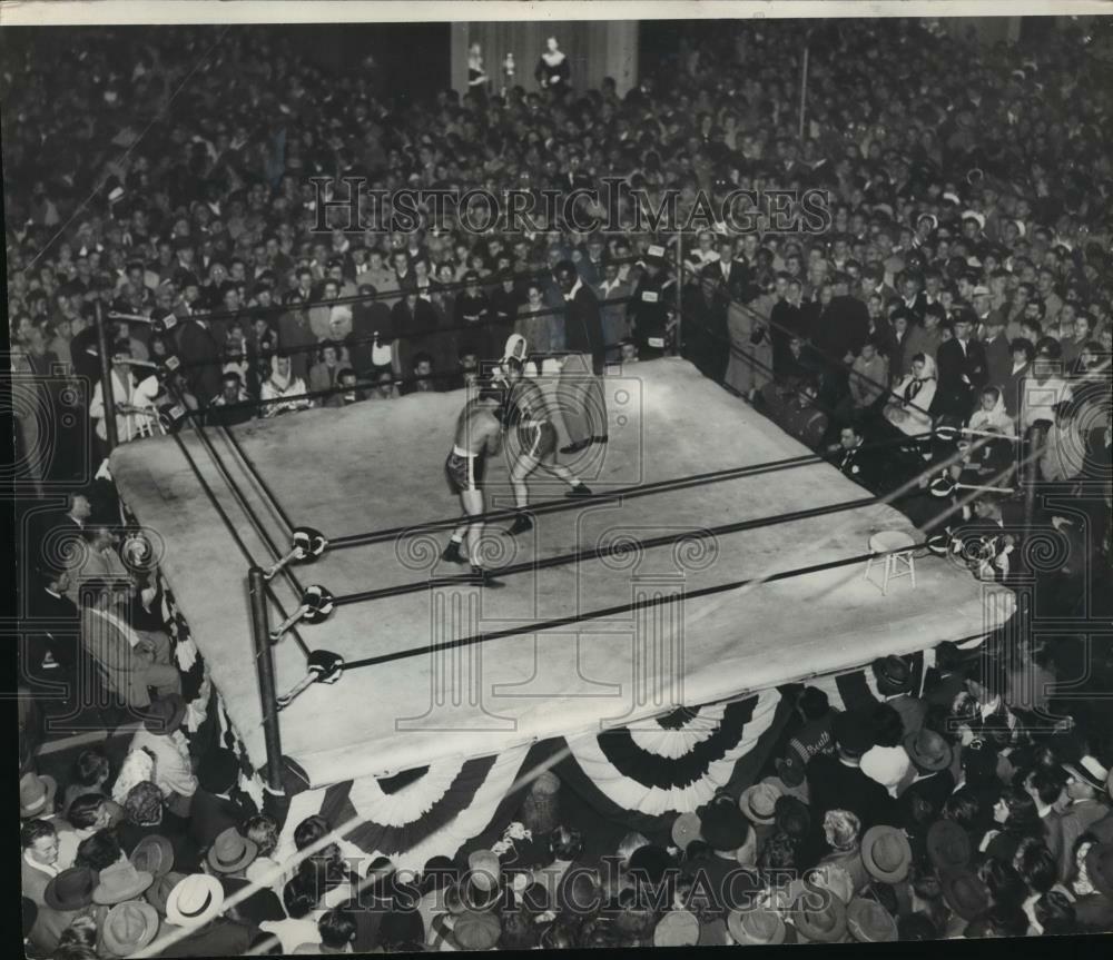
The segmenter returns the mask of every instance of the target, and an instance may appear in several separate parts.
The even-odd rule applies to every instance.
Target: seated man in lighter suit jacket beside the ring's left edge
[[[105,673],[109,687],[128,706],[150,704],[148,687],[159,695],[181,692],[181,676],[170,663],[165,633],[134,630],[124,615],[130,585],[87,581],[81,592],[81,644]]]

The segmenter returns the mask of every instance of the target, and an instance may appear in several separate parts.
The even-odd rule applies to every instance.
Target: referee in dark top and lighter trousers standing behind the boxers
[[[564,297],[564,340],[571,355],[560,373],[560,407],[569,445],[561,453],[579,453],[607,443],[607,402],[601,380],[604,366],[603,321],[599,298],[585,286],[575,265],[561,260],[553,270]]]

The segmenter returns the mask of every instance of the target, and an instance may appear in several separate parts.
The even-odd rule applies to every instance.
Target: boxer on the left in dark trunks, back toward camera
[[[479,396],[470,399],[460,412],[456,420],[456,435],[452,453],[444,462],[449,488],[460,496],[464,508],[463,522],[452,532],[452,540],[441,554],[441,558],[451,563],[465,563],[460,547],[467,537],[467,557],[472,573],[482,578],[485,586],[504,586],[492,580],[483,570],[480,556],[480,540],[483,535],[483,522],[470,517],[482,514],[486,508],[483,496],[483,474],[486,458],[499,453],[502,443],[503,426],[499,419],[504,400],[503,392],[491,386],[482,386]]]

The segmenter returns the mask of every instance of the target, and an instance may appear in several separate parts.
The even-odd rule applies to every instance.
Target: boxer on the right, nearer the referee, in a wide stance
[[[508,531],[512,535],[533,526],[533,521],[525,514],[530,502],[525,478],[538,467],[564,481],[571,487],[567,496],[591,496],[591,491],[572,471],[556,463],[556,427],[549,416],[544,393],[534,380],[525,379],[524,374],[525,365],[518,357],[503,360],[502,382],[506,387],[503,424],[515,432],[518,439],[518,455],[510,468],[514,504],[519,512]]]

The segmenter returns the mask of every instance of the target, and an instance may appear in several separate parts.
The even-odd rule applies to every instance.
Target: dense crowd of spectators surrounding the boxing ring
[[[1080,33],[989,49],[906,21],[762,22],[689,38],[622,97],[573,76],[567,91],[445,91],[422,109],[269,34],[144,36],[28,41],[6,80],[13,364],[53,425],[45,439],[35,416],[20,424],[40,482],[99,464],[107,418],[119,442],[142,443],[187,419],[452,388],[512,333],[560,353],[552,268],[569,260],[600,300],[613,360],[684,354],[894,496],[978,577],[1034,583],[1041,615],[1107,618],[1080,604],[1101,602],[1090,587],[1110,562],[1113,88]],[[709,224],[683,238],[682,265],[663,254],[668,235],[562,222],[353,234],[335,208],[315,232],[307,178],[347,174],[384,190],[617,176],[654,200],[679,191],[681,214],[699,190],[815,188],[831,219],[778,234],[759,205],[756,231]],[[623,222],[633,212],[624,202]],[[73,406],[92,449],[87,422],[63,417]],[[41,445],[50,457],[27,456]],[[1067,544],[1051,567],[1024,550],[1025,485],[1056,495],[1034,496],[1028,518]],[[203,697],[115,511],[101,473],[37,521],[27,607],[52,626],[32,631],[23,670],[38,684],[89,666],[144,717],[129,758],[154,762],[116,770],[89,750],[58,783],[36,769],[24,706],[37,956],[126,957],[170,928],[187,936],[162,956],[1113,929],[1113,722],[1105,701],[1077,695],[1107,689],[1107,636],[1091,647],[1006,631],[973,659],[944,645],[927,670],[885,657],[841,710],[797,691],[768,775],[667,835],[588,850],[565,825],[514,857],[354,877],[319,818],[298,825],[293,861],[276,859],[277,818],[240,789],[236,758],[185,723]],[[67,537],[81,548],[61,550]],[[1071,699],[1055,695],[1057,677],[1081,675]]]

